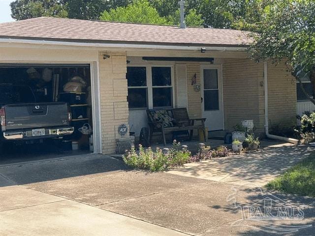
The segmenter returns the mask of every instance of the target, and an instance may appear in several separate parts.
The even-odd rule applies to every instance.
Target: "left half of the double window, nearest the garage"
[[[127,67],[128,103],[130,109],[148,107],[148,86],[146,67]]]

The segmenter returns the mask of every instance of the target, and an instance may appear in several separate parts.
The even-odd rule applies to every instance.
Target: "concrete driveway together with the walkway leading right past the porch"
[[[278,164],[270,162],[272,153],[284,151],[295,154],[276,156]],[[216,159],[196,164],[202,165],[202,172],[195,166],[168,173],[134,171],[120,160],[95,155],[0,166],[5,185],[0,188],[0,235],[267,236],[293,228],[295,232],[286,235],[311,236],[315,199],[261,192],[254,186],[259,178],[248,181],[247,177],[252,170],[254,176],[260,171],[260,177],[280,173],[310,151],[291,147],[265,150],[263,157],[256,153]],[[264,157],[269,161],[264,162]],[[246,166],[251,171],[244,172]],[[220,178],[203,176],[207,172]],[[235,181],[223,181],[232,173],[239,173]],[[242,179],[247,179],[245,185]],[[266,197],[299,208],[305,218],[248,221],[242,217],[240,207],[260,206]]]

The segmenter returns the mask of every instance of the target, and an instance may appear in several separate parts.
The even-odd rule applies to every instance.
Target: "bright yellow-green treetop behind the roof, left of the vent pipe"
[[[158,11],[147,0],[134,0],[126,7],[104,11],[100,16],[100,20],[157,25],[171,24],[165,17],[160,17]]]

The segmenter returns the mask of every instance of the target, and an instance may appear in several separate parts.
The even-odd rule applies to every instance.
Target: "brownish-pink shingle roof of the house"
[[[234,29],[157,26],[39,17],[0,24],[0,38],[99,43],[244,46],[246,32]]]

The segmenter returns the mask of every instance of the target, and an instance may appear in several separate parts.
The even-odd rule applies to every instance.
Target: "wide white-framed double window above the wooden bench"
[[[129,109],[173,106],[172,67],[128,66],[126,78]]]

